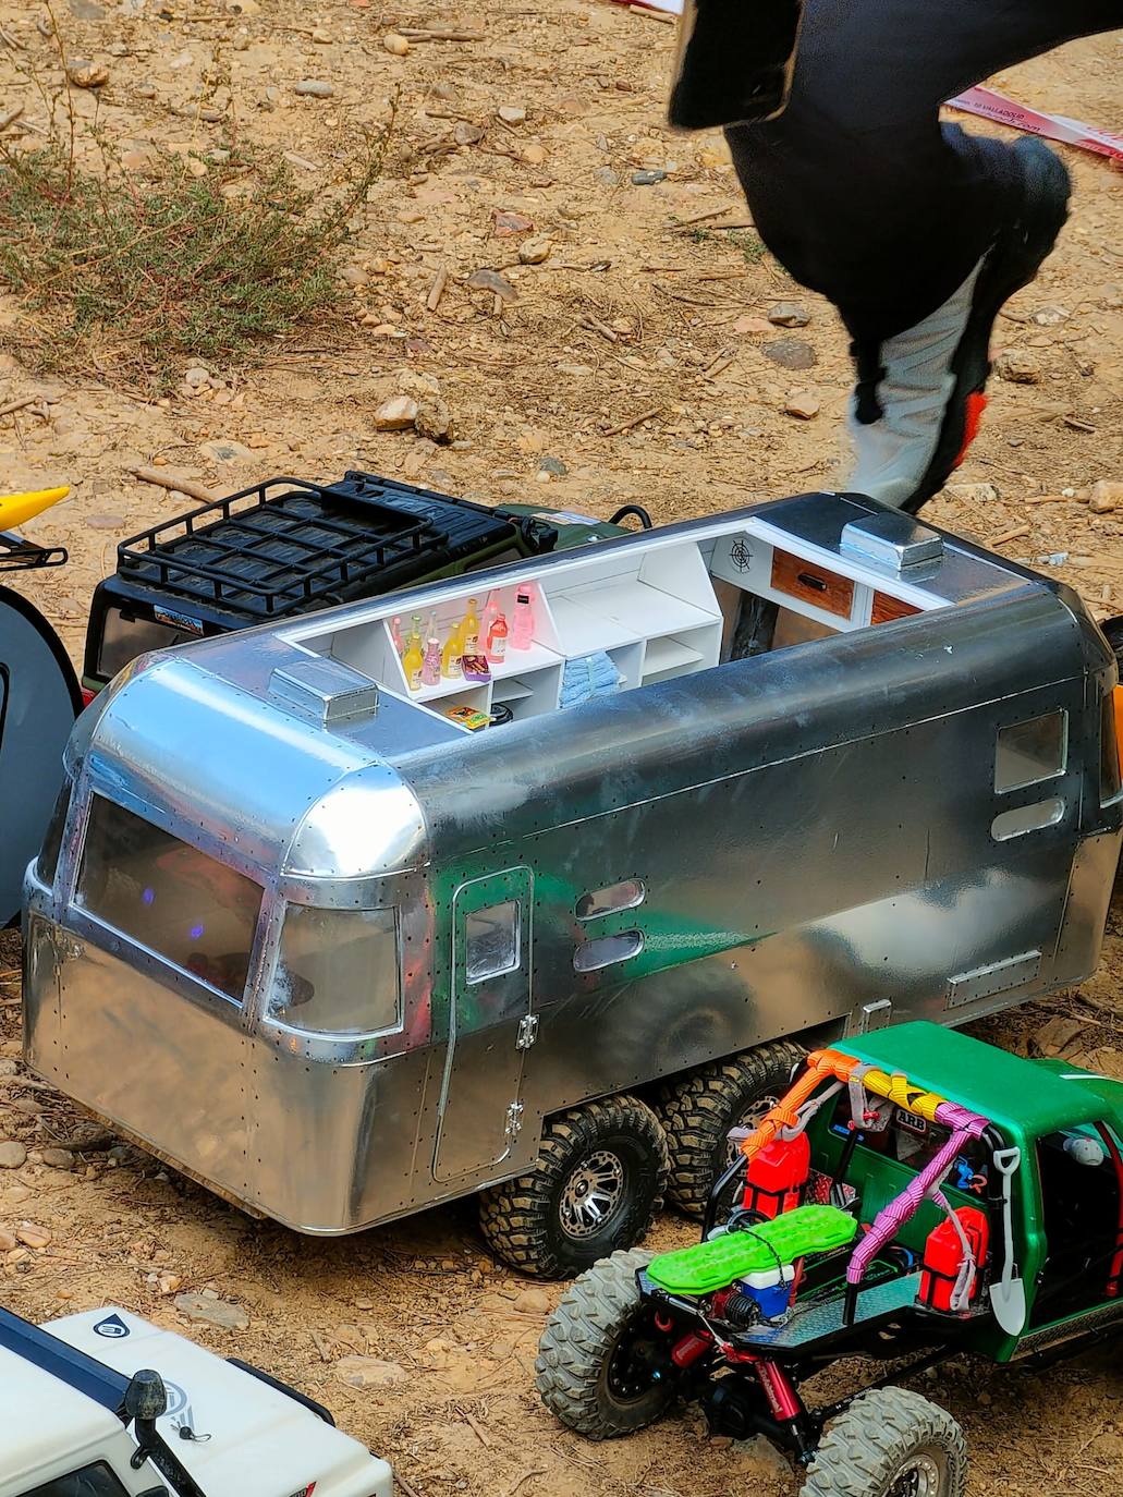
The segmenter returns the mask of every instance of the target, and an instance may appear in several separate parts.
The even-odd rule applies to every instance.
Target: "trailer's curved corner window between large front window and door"
[[[401,1024],[394,910],[290,904],[270,1018],[310,1034],[380,1034]]]

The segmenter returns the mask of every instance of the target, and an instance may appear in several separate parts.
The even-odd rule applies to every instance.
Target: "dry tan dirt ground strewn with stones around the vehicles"
[[[36,0],[0,0],[0,118],[22,106],[4,135],[16,148],[43,126],[28,69],[57,76],[36,25],[43,13]],[[69,567],[22,585],[75,659],[115,543],[186,507],[136,482],[141,464],[216,493],[364,467],[551,509],[606,515],[633,500],[656,521],[837,476],[844,338],[830,307],[761,254],[752,226],[723,228],[744,222],[744,205],[722,141],[663,127],[671,28],[660,21],[603,0],[478,10],[57,0],[55,13],[69,52],[108,70],[97,91],[75,90],[75,108],[133,163],[141,189],[153,144],[208,151],[232,123],[289,153],[305,186],[326,184],[349,132],[376,129],[400,90],[386,171],[343,262],[343,338],[311,328],[253,370],[208,367],[210,379],[160,403],[123,389],[112,358],[100,380],[42,380],[0,353],[0,407],[37,397],[0,418],[0,490],[73,485],[28,527],[69,546]],[[466,39],[416,39],[404,55],[383,45],[391,28],[436,24]],[[1119,129],[1119,51],[1117,36],[1077,43],[996,82]],[[301,81],[329,84],[329,96],[295,93]],[[1123,180],[1077,151],[1066,160],[1072,222],[997,328],[1032,382],[994,380],[981,440],[927,513],[1039,561],[1108,614],[1123,611],[1123,521],[1093,512],[1087,491],[1123,479]],[[505,277],[514,296],[470,286],[479,271]],[[804,325],[768,320],[785,301]],[[0,292],[0,349],[19,313]],[[782,340],[798,347],[777,350]],[[451,445],[374,430],[383,400],[418,391],[448,404]],[[18,943],[1,940],[0,1138],[28,1150],[0,1169],[4,1304],[46,1319],[117,1302],[190,1329],[323,1400],[416,1497],[792,1491],[768,1451],[708,1440],[695,1416],[603,1446],[554,1425],[532,1364],[560,1289],[491,1263],[470,1204],[355,1240],[304,1241],[99,1138],[18,1067]],[[1020,1048],[1036,1037],[1123,1075],[1122,970],[1113,930],[1081,993],[991,1034]],[[656,1243],[690,1235],[668,1216]],[[189,1328],[175,1295],[208,1289],[249,1326]],[[340,1362],[356,1355],[391,1364],[382,1386],[343,1382]],[[1122,1388],[1110,1355],[1036,1376],[954,1367],[921,1386],[966,1425],[972,1494],[1119,1488]]]

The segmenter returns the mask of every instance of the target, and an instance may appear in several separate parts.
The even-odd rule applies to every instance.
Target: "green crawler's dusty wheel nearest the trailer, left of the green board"
[[[572,1284],[538,1343],[535,1385],[550,1412],[590,1440],[653,1424],[674,1398],[669,1341],[639,1298],[651,1253],[612,1253]]]

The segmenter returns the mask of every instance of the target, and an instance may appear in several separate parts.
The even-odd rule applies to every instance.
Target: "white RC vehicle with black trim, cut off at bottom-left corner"
[[[127,1310],[0,1310],[0,1497],[392,1497],[320,1404]]]

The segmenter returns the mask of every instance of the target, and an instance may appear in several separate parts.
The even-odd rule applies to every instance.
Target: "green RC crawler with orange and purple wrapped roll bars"
[[[903,1024],[810,1055],[738,1142],[701,1243],[614,1253],[550,1319],[538,1388],[572,1430],[695,1400],[716,1434],[788,1452],[803,1497],[963,1497],[958,1425],[891,1383],[961,1352],[1069,1355],[1123,1320],[1116,1081]],[[852,1355],[898,1365],[809,1409],[803,1380]]]

